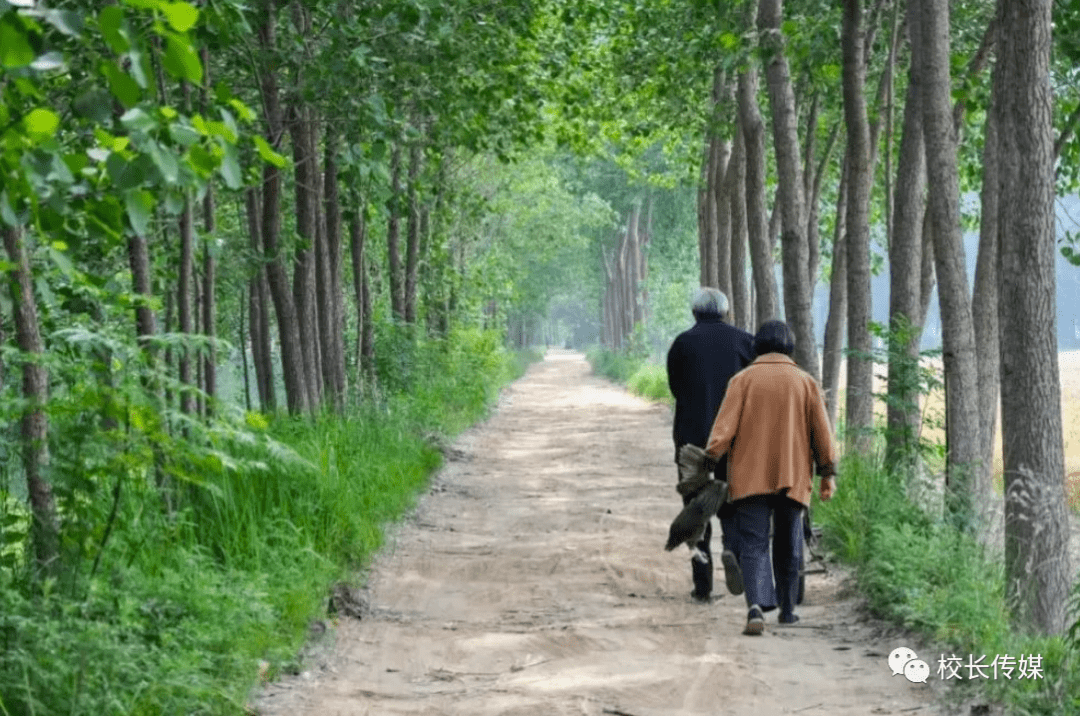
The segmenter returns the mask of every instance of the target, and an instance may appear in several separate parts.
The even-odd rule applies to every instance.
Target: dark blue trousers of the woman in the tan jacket
[[[780,607],[781,617],[791,617],[798,600],[802,562],[802,504],[786,495],[755,495],[731,504],[746,605],[756,604],[765,611]]]

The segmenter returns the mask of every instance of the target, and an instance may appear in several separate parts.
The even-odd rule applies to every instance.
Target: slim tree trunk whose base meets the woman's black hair
[[[765,208],[765,122],[757,106],[757,70],[750,67],[739,76],[739,122],[746,151],[746,234],[757,301],[755,326],[779,318],[780,313]]]

